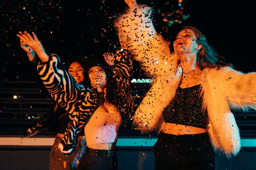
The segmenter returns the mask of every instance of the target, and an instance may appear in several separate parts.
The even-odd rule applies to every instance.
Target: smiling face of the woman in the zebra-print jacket
[[[88,76],[90,78],[91,86],[93,88],[104,89],[107,85],[107,75],[102,67],[93,66],[88,71]]]

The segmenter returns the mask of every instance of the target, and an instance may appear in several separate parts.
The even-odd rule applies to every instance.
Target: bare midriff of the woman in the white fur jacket
[[[188,125],[164,123],[162,132],[168,133],[168,134],[175,134],[175,135],[198,134],[198,133],[205,133],[206,129],[188,126]]]

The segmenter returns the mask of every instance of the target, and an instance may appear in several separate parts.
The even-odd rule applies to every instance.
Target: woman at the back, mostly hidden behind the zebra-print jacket
[[[36,85],[41,91],[41,94],[50,97],[50,94],[48,93],[37,73],[37,65],[39,59],[38,57],[36,57],[35,51],[33,51],[23,41],[20,41],[20,46],[22,49],[24,49],[25,52],[27,52],[30,70],[36,81]],[[82,66],[85,64],[84,59],[85,58],[83,56],[72,57],[66,65],[68,68],[68,72],[74,77],[77,83],[84,82],[85,68]],[[60,149],[58,148],[58,145],[64,136],[64,132],[66,130],[68,122],[69,114],[66,110],[59,107],[59,105],[55,102],[53,104],[53,107],[49,110],[45,119],[34,122],[33,124],[30,124],[24,128],[25,138],[34,136],[42,131],[48,130],[49,128],[57,133],[50,151],[50,170],[63,170],[64,168],[66,170],[76,170],[77,160],[79,159],[79,156],[82,155],[84,152],[84,150],[82,150],[82,145],[85,144],[85,136],[82,133],[79,136],[76,149],[71,155],[63,155],[63,153],[61,153]]]

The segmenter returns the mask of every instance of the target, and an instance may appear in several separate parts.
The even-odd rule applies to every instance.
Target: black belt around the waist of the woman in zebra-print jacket
[[[85,155],[91,155],[91,156],[99,156],[101,158],[111,157],[114,156],[116,153],[116,150],[102,150],[102,149],[92,149],[92,148],[85,148]]]

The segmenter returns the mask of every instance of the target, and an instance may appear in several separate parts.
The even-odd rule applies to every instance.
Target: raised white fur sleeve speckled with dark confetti
[[[154,76],[162,71],[160,68],[170,70],[173,64],[176,65],[177,58],[170,53],[169,43],[155,31],[152,12],[153,9],[145,5],[138,5],[134,11],[126,8],[114,24],[121,46],[128,49],[133,59]]]

